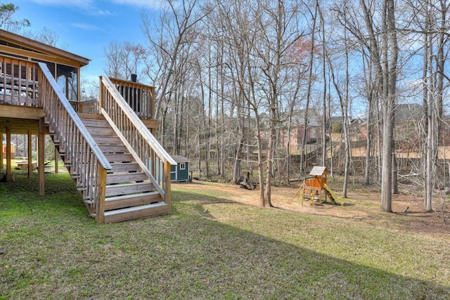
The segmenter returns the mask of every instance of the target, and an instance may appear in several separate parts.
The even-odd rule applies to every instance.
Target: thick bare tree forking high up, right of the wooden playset
[[[375,74],[380,82],[380,99],[383,110],[383,167],[381,174],[381,206],[392,211],[392,161],[394,155],[394,103],[397,96],[397,42],[394,0],[359,0],[364,28],[345,22],[349,31],[359,39],[371,55]],[[376,13],[375,13],[376,11]],[[378,16],[380,18],[378,18]],[[353,15],[352,15],[353,17]],[[354,18],[352,18],[354,19]],[[349,15],[345,17],[349,20]]]

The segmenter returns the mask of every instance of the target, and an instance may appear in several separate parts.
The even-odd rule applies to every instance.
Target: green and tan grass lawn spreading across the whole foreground
[[[170,215],[97,225],[67,174],[46,175],[45,197],[37,174],[15,178],[0,183],[0,299],[450,299],[448,233],[189,185],[172,189]]]

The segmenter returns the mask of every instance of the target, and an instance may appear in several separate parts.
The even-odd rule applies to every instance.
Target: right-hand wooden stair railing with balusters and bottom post
[[[131,109],[108,77],[100,77],[101,114],[170,208],[170,169],[174,159]]]

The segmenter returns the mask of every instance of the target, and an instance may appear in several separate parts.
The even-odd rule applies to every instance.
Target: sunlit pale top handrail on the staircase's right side
[[[146,126],[143,124],[141,119],[136,115],[136,113],[129,107],[127,104],[127,101],[124,100],[122,95],[117,91],[113,83],[110,81],[108,77],[101,76],[100,77],[101,82],[105,86],[105,89],[108,89],[109,93],[113,95],[113,98],[115,99],[117,105],[120,106],[120,109],[124,112],[125,115],[129,118],[129,121],[136,127],[136,130],[139,131],[141,136],[148,142],[150,147],[153,151],[158,155],[158,157],[162,158],[163,162],[168,162],[171,165],[176,165],[176,162],[174,159],[166,152],[164,148],[162,148],[162,145],[158,142],[158,140],[153,136],[153,134],[148,131]],[[101,92],[101,100],[100,100],[100,106],[101,111],[105,112],[105,107],[103,105],[105,104],[102,99],[103,93]],[[105,112],[108,114],[108,112]]]

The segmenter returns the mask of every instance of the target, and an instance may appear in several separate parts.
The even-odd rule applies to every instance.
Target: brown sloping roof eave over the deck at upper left
[[[0,30],[0,52],[77,67],[88,65],[91,61],[88,58],[77,56],[74,53],[46,45],[40,41],[22,37],[6,30]]]

